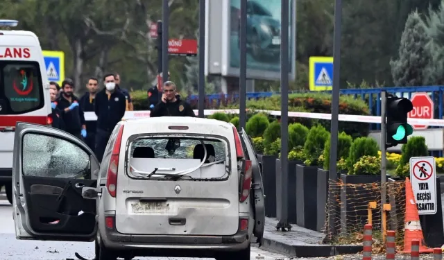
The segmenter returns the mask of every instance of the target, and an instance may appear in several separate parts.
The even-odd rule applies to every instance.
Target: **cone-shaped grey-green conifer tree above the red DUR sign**
[[[397,60],[391,60],[393,83],[397,86],[427,85],[426,67],[431,57],[425,48],[429,37],[418,11],[411,12],[402,33]]]

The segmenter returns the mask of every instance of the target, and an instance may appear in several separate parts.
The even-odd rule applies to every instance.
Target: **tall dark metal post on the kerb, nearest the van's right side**
[[[281,200],[280,203],[280,220],[276,229],[285,231],[285,228],[291,229],[288,221],[288,180],[289,180],[289,165],[288,165],[288,137],[289,137],[289,0],[281,0],[281,41],[280,41],[280,93],[281,93]]]

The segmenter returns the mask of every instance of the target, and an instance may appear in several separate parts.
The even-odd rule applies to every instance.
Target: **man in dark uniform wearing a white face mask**
[[[108,73],[103,77],[105,89],[96,94],[94,112],[97,116],[96,157],[102,162],[106,144],[114,127],[125,115],[126,98],[116,87],[114,74]]]

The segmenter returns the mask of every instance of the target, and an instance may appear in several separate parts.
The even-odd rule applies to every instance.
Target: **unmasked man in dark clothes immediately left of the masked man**
[[[91,77],[86,85],[88,92],[85,93],[80,98],[80,108],[83,112],[94,112],[96,103],[96,94],[99,89],[99,80],[97,78]],[[91,150],[96,150],[96,128],[97,121],[86,121],[86,129],[88,130],[88,135],[85,138],[85,143],[91,148]]]

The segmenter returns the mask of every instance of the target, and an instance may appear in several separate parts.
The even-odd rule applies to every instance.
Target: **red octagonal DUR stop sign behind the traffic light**
[[[413,110],[409,112],[411,119],[434,119],[434,103],[427,93],[416,93],[410,99]],[[413,129],[427,129],[429,125],[412,125]]]

